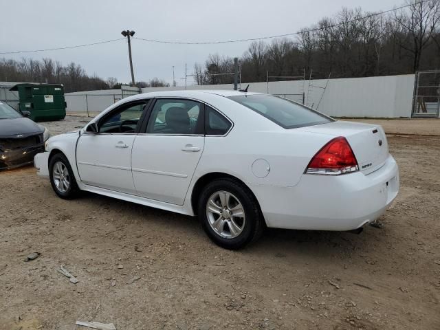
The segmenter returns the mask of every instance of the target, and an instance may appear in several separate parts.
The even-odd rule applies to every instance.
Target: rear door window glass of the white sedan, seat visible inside
[[[159,98],[151,111],[146,133],[201,134],[203,104],[192,100]]]

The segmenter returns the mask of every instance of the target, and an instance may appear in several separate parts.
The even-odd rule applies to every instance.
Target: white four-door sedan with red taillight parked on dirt
[[[265,226],[360,230],[390,206],[399,172],[381,126],[241,91],[124,98],[35,156],[56,195],[79,190],[197,215],[242,248]]]

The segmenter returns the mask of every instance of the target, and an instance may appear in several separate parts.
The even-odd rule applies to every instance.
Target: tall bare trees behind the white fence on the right
[[[241,82],[265,81],[267,74],[350,78],[440,69],[440,0],[406,4],[380,15],[343,8],[295,38],[254,41],[239,58]],[[233,75],[225,75],[232,72],[233,58],[219,54],[194,67],[197,85],[233,83]]]

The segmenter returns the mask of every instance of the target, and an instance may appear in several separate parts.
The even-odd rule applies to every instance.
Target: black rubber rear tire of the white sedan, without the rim
[[[239,203],[243,206],[245,214],[245,221],[243,221],[241,233],[232,238],[225,238],[212,228],[206,211],[210,197],[221,191],[229,192],[233,197],[238,199]],[[228,250],[239,250],[244,248],[245,245],[248,245],[251,241],[256,241],[265,228],[263,214],[261,214],[259,204],[254,195],[252,195],[252,192],[250,192],[248,187],[229,178],[216,179],[203,188],[199,196],[198,217],[203,230],[205,230],[210,239],[221,246],[221,248]],[[228,225],[226,226],[226,230],[228,230]]]

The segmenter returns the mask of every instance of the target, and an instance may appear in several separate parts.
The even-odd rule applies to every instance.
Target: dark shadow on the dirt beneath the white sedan
[[[129,218],[141,218],[144,221],[148,221],[148,223],[154,223],[158,228],[161,228],[162,225],[164,228],[172,228],[173,232],[181,233],[184,237],[189,235],[195,241],[203,240],[203,242],[199,243],[207,241],[206,234],[203,232],[197,217],[142,206],[91,192],[81,194],[80,199],[99,207],[110,208],[112,212],[124,214]],[[353,253],[354,250],[358,250],[358,252],[367,250],[372,240],[380,244],[382,242],[385,245],[384,231],[386,231],[386,228],[380,230],[371,226],[366,226],[365,230],[360,234],[265,228],[263,235],[258,241],[239,250],[239,253],[254,254],[258,252],[263,255],[279,257],[288,256],[291,252],[298,251],[322,256],[340,253],[347,255]],[[214,245],[214,243],[208,242]]]

